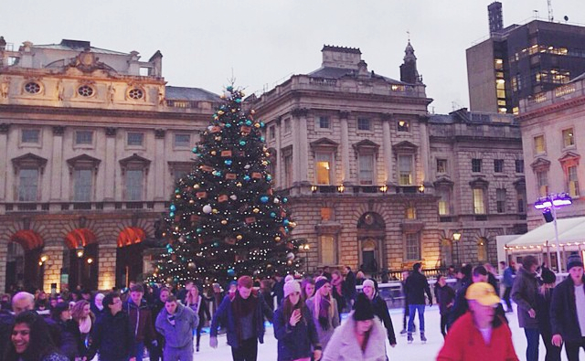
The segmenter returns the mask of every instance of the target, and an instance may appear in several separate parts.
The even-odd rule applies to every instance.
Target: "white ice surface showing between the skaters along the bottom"
[[[515,305],[516,306],[516,305]],[[437,353],[442,346],[442,335],[439,330],[440,325],[440,314],[439,308],[436,305],[431,307],[427,306],[425,311],[425,334],[427,336],[427,343],[422,345],[420,343],[419,333],[414,335],[414,342],[407,344],[406,335],[400,336],[400,330],[402,330],[402,311],[399,309],[390,310],[392,318],[392,324],[394,324],[394,331],[397,333],[398,345],[391,348],[387,344],[388,358],[394,361],[409,360],[409,361],[422,361],[422,360],[434,360]],[[345,316],[345,315],[344,315]],[[520,360],[526,360],[526,347],[527,341],[524,334],[524,330],[518,327],[518,319],[516,313],[506,313],[510,328],[512,329],[514,345],[516,348],[516,355]],[[416,319],[417,331],[418,331],[418,316]],[[226,335],[218,335],[218,348],[212,349],[209,347],[209,335],[202,334],[201,336],[201,347],[199,352],[195,353],[194,360],[231,360],[231,348],[227,345]],[[277,341],[274,338],[271,325],[266,328],[266,335],[264,336],[264,344],[258,346],[258,360],[259,361],[276,361],[277,355]],[[545,346],[540,340],[540,352],[539,360],[545,359]],[[581,350],[581,359],[584,358],[585,353]],[[562,351],[562,360],[566,361],[565,351]]]

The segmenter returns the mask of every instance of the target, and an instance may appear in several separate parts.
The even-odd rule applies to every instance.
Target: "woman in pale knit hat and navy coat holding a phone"
[[[284,298],[274,312],[274,337],[278,340],[278,361],[314,361],[321,358],[321,344],[313,316],[301,298],[301,286],[288,281]]]

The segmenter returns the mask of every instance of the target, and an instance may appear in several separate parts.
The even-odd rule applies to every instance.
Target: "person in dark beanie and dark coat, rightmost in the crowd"
[[[552,292],[552,344],[560,347],[564,342],[569,361],[578,361],[580,348],[585,348],[585,278],[580,255],[569,256],[567,271],[569,277]]]

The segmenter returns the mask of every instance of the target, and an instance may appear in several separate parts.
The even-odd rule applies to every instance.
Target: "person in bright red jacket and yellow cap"
[[[519,361],[504,317],[496,315],[500,298],[487,282],[465,292],[469,310],[452,325],[437,361]]]

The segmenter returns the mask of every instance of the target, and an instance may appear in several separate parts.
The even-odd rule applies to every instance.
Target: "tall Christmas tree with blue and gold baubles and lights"
[[[224,104],[193,148],[195,165],[179,179],[166,225],[169,242],[156,260],[155,281],[227,282],[299,268],[295,226],[273,193],[263,122],[243,111],[244,93],[229,86]]]

